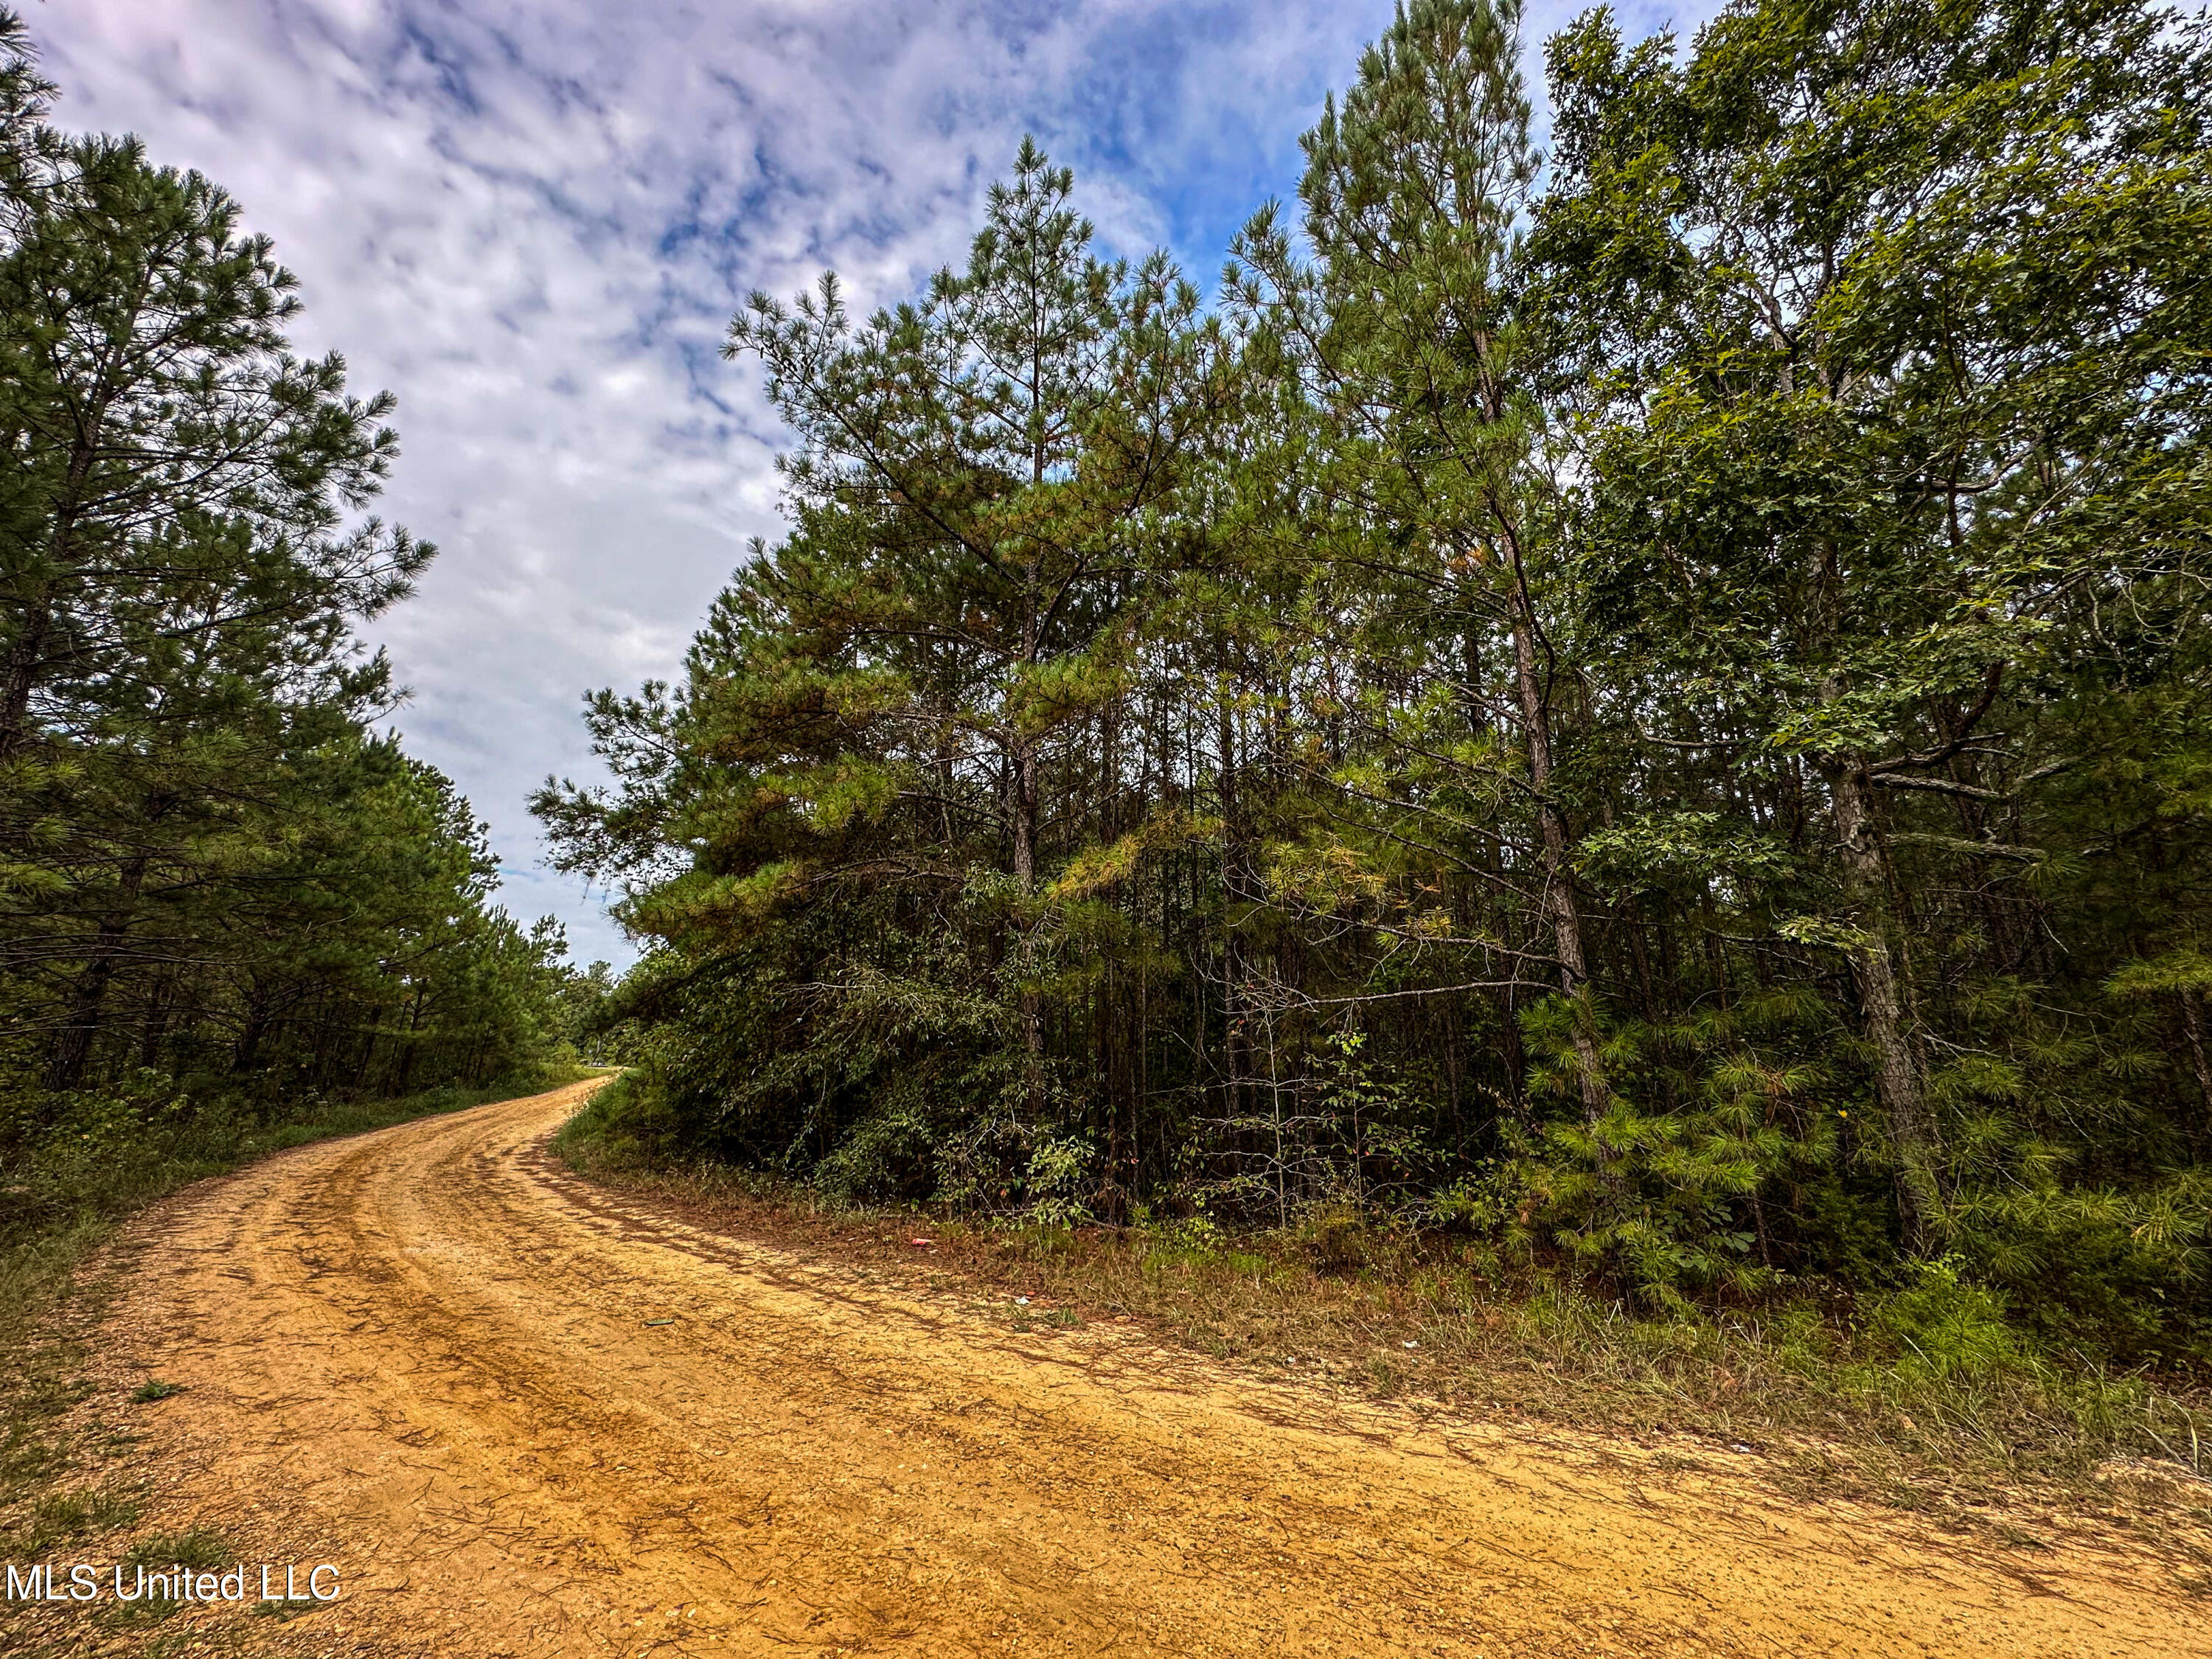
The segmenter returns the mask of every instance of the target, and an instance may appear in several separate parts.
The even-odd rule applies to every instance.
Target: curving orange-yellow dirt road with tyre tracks
[[[374,1655],[2212,1652],[2203,1604],[2117,1559],[1936,1548],[1761,1498],[1725,1455],[1663,1471],[1347,1407],[1126,1325],[1015,1334],[971,1294],[690,1230],[553,1166],[542,1141],[584,1088],[303,1148],[150,1221],[104,1365],[186,1385],[144,1409],[148,1522],[221,1526],[250,1562],[332,1559],[345,1584],[290,1624],[168,1635]]]

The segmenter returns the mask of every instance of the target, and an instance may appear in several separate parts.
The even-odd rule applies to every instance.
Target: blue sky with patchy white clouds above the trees
[[[856,310],[956,259],[1035,133],[1108,252],[1210,281],[1387,0],[13,0],[71,128],[139,133],[276,239],[303,347],[398,394],[385,515],[442,549],[374,628],[400,728],[491,823],[515,914],[635,951],[524,796],[577,699],[666,677],[776,533],[779,442],[717,356],[752,288]],[[1531,35],[1575,4],[1540,0]],[[1619,7],[1635,33],[1708,7]],[[1535,69],[1535,64],[1531,64]]]

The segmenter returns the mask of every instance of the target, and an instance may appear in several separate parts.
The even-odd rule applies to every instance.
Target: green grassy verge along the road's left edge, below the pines
[[[515,1099],[593,1075],[597,1071],[573,1068],[403,1099],[310,1102],[296,1119],[281,1124],[223,1110],[179,1113],[179,1121],[142,1117],[128,1155],[108,1144],[113,1126],[91,1126],[64,1130],[38,1155],[13,1159],[0,1170],[7,1214],[0,1223],[0,1555],[33,1559],[137,1520],[137,1500],[104,1489],[86,1469],[86,1449],[73,1444],[64,1427],[71,1409],[86,1398],[86,1338],[113,1287],[86,1276],[84,1267],[126,1217],[190,1181],[290,1146]],[[148,1378],[131,1400],[150,1405],[173,1394],[179,1394],[175,1383]],[[113,1427],[106,1433],[128,1436]],[[153,1564],[161,1551],[201,1553],[212,1537],[146,1540],[131,1559]],[[168,1555],[161,1559],[170,1562]],[[175,1562],[199,1566],[190,1555]]]

